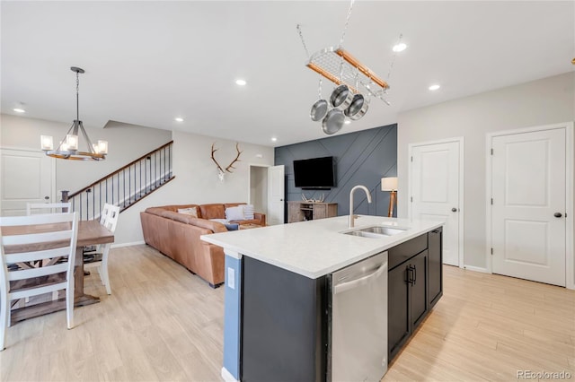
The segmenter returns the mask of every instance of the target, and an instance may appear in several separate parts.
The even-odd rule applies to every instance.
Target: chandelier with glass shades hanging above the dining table
[[[98,141],[98,143],[92,143],[90,138],[88,138],[86,131],[84,130],[82,121],[80,120],[78,97],[78,91],[80,88],[79,75],[84,73],[84,69],[72,66],[70,70],[75,72],[75,120],[72,123],[72,126],[70,126],[68,129],[64,139],[58,144],[56,150],[54,150],[54,143],[51,135],[40,135],[42,151],[45,152],[49,157],[57,159],[73,161],[103,161],[106,159],[106,154],[108,153],[108,142]],[[79,150],[78,133],[81,133],[84,137],[87,151],[81,152]]]

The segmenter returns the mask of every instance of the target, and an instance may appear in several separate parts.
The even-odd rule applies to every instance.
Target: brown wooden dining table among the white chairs
[[[46,226],[41,225],[27,225],[27,226],[13,226],[3,227],[2,230],[6,234],[30,234],[40,233],[46,230]],[[108,230],[100,221],[78,221],[78,239],[75,249],[75,297],[74,306],[83,307],[85,305],[100,302],[100,298],[84,293],[84,247],[95,246],[98,244],[108,244],[114,242],[114,234]],[[9,254],[15,252],[15,248],[11,246],[4,247],[4,252]],[[66,299],[61,298],[38,304],[26,306],[23,308],[13,308],[11,310],[12,324],[19,321],[46,315],[58,310],[66,309]]]

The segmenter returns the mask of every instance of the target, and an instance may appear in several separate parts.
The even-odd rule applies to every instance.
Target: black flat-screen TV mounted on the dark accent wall
[[[294,161],[296,187],[304,189],[330,189],[335,187],[333,157]]]

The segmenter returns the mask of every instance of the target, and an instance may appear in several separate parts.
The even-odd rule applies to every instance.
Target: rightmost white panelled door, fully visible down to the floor
[[[565,286],[565,135],[492,137],[493,273]]]

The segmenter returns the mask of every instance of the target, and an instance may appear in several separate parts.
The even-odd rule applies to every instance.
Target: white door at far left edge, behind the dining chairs
[[[51,158],[38,151],[2,149],[0,152],[2,216],[25,215],[27,203],[57,202]]]

